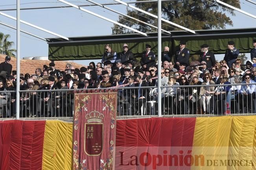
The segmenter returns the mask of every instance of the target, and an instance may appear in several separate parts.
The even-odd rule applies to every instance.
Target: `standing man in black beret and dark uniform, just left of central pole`
[[[144,69],[148,69],[149,67],[155,65],[156,55],[151,51],[151,45],[146,44],[145,47],[146,51],[142,54],[140,64]]]

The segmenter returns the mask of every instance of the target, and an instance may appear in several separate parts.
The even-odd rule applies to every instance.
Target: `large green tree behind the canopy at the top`
[[[240,8],[238,0],[223,0],[223,2]],[[157,15],[157,2],[138,3],[135,6]],[[226,25],[233,25],[225,12],[232,15],[235,14],[232,9],[227,10],[227,7],[223,6],[224,8],[222,8],[221,6],[223,5],[209,0],[174,0],[162,2],[162,18],[192,30],[224,29]],[[157,26],[157,19],[148,19],[152,17],[139,11],[128,10],[127,8],[127,15]],[[142,32],[152,32],[153,29],[142,23],[139,23],[141,26],[138,26],[136,24],[137,22],[134,22],[134,20],[125,16],[120,16],[118,22]],[[162,23],[162,29],[167,31],[179,30],[179,28],[175,28],[168,23]],[[157,30],[154,29],[153,31]],[[114,24],[114,27],[112,27],[112,34],[123,33],[132,33],[132,31],[123,28],[120,29],[118,25]]]

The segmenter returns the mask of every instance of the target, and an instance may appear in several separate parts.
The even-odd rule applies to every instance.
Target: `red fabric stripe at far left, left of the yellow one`
[[[0,169],[41,169],[45,121],[0,121]]]

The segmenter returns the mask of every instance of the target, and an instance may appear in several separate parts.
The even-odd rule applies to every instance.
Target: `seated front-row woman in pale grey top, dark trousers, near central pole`
[[[177,94],[177,87],[179,83],[176,83],[173,75],[169,76],[168,87],[166,87],[166,92],[164,93],[164,112],[168,112],[168,114],[176,114],[176,108],[174,106],[174,99]]]

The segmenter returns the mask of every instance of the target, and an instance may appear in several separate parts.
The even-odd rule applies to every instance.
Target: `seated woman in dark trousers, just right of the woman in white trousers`
[[[219,76],[219,84],[220,85],[230,84],[230,82],[228,82],[228,77],[221,74]],[[227,113],[226,104],[227,104],[227,94],[229,89],[230,89],[230,86],[217,86],[215,87],[213,92],[209,92],[209,94],[213,94],[213,97],[211,98],[211,101],[210,101],[211,103],[213,103],[213,114],[222,115]]]

